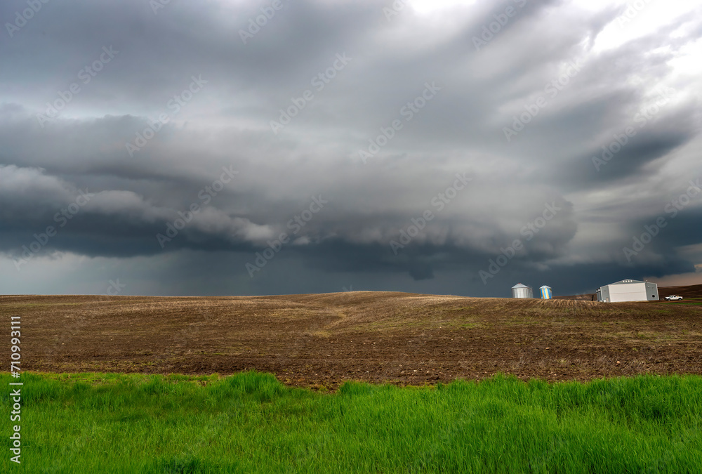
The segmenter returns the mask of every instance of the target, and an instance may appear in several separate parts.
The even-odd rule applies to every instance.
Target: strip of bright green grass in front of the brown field
[[[22,374],[27,473],[698,473],[702,377],[554,383],[495,376],[424,388],[272,375]]]

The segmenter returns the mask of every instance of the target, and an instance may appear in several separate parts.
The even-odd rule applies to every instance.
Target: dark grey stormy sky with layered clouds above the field
[[[702,6],[8,0],[0,294],[702,282]]]

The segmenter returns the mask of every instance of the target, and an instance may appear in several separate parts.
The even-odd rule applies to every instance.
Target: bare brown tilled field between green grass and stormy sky
[[[682,294],[682,291],[679,291]],[[702,374],[702,300],[597,303],[354,291],[162,298],[0,296],[22,370],[231,374],[296,386]],[[9,354],[9,338],[4,353]],[[9,358],[9,357],[8,357]]]

